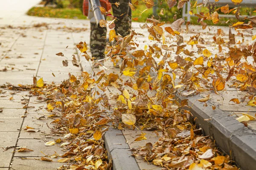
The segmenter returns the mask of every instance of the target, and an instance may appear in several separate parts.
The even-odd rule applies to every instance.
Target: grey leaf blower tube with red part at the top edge
[[[99,26],[100,20],[105,20],[99,7],[102,6],[106,11],[111,9],[111,3],[108,0],[84,0],[83,14],[90,19],[90,22],[96,23]]]

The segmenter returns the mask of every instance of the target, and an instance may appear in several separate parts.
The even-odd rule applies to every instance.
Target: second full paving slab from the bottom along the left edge
[[[18,136],[19,132],[0,132],[0,147],[15,146]]]

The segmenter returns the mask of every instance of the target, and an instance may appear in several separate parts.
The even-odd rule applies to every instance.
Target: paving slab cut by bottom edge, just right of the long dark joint
[[[41,157],[29,157],[29,159],[14,157],[12,161],[12,168],[14,170],[56,170],[57,167],[61,167],[63,165],[63,163],[47,162],[36,159],[41,159]],[[58,159],[52,160],[57,161]]]

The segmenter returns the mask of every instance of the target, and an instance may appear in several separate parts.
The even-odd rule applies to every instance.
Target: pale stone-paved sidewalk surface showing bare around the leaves
[[[26,1],[28,3],[27,8],[31,6],[31,0]],[[34,1],[34,3],[36,3]],[[15,4],[19,6],[18,1]],[[6,6],[7,8],[7,6]],[[14,7],[13,7],[14,8]],[[1,8],[0,8],[1,9]],[[0,70],[6,68],[6,72],[0,71],[0,85],[3,84],[32,84],[33,76],[37,79],[43,77],[44,82],[56,84],[61,83],[64,79],[68,78],[68,73],[80,76],[81,71],[87,71],[90,73],[96,72],[97,69],[92,69],[91,64],[84,58],[78,58],[77,51],[74,49],[75,45],[80,41],[89,42],[90,32],[89,22],[87,20],[63,20],[63,19],[49,19],[29,17],[23,13],[26,9],[22,9],[13,16],[9,16],[4,11],[0,10]],[[41,24],[41,27],[35,27],[34,24]],[[43,24],[44,23],[44,24]],[[140,23],[133,23],[133,28],[139,32],[145,34],[145,37],[138,36],[136,42],[140,44],[140,48],[143,49],[144,45],[148,45],[153,42],[149,42],[147,38],[147,30],[140,29]],[[7,27],[11,25],[12,27]],[[22,26],[22,27],[20,27]],[[27,28],[24,28],[27,27]],[[45,27],[47,26],[47,27]],[[79,28],[80,31],[71,31],[73,28]],[[195,31],[191,29],[189,34],[184,36],[185,40],[189,40],[189,37],[194,35],[191,32]],[[218,27],[210,27],[212,34],[204,35],[205,38],[211,38],[215,34]],[[81,30],[84,29],[84,30]],[[222,27],[222,29],[228,30],[228,28]],[[249,43],[250,37],[246,40]],[[68,47],[67,47],[68,46]],[[66,48],[67,47],[67,48]],[[209,49],[210,50],[210,49]],[[62,60],[64,57],[56,56],[55,54],[62,52],[64,56],[68,58],[69,66],[63,67]],[[216,53],[215,47],[212,47],[212,54]],[[227,52],[227,49],[224,49]],[[81,67],[74,67],[71,63],[72,54],[76,54],[78,60],[83,63],[83,69]],[[7,66],[7,67],[6,67]],[[11,70],[11,68],[14,68]],[[108,68],[106,72],[119,72],[113,68],[111,63],[106,63],[105,67]],[[52,76],[55,74],[55,77]],[[113,90],[113,89],[112,89]],[[116,90],[107,91],[107,93],[116,93]],[[247,107],[245,100],[239,105],[233,105],[229,103],[232,98],[241,98],[246,94],[227,88],[227,91],[220,93],[221,95],[211,94],[212,103],[220,108],[222,111],[230,111],[235,113],[249,113],[254,116],[256,109]],[[204,95],[204,94],[203,94]],[[13,99],[10,99],[13,97]],[[225,100],[223,100],[225,98]],[[61,163],[57,162],[44,162],[33,160],[34,158],[41,158],[41,156],[52,155],[55,152],[58,154],[63,153],[58,144],[45,147],[44,143],[60,138],[60,136],[52,136],[50,122],[52,119],[47,117],[49,113],[45,110],[46,102],[40,102],[35,96],[30,96],[27,92],[14,92],[10,90],[0,89],[0,147],[28,147],[34,150],[33,152],[18,153],[14,152],[15,148],[8,149],[2,152],[0,150],[0,170],[8,170],[12,167],[15,170],[34,170],[35,168],[40,170],[56,169],[61,166]],[[23,107],[32,106],[33,108]],[[216,113],[217,114],[217,113]],[[45,118],[37,119],[40,116]],[[234,116],[230,115],[230,116]],[[240,124],[237,122],[237,124]],[[256,129],[255,122],[249,122],[249,127]],[[34,127],[39,132],[26,132],[23,127]],[[49,127],[48,127],[49,126]],[[122,133],[129,147],[138,147],[145,145],[145,141],[131,143],[134,140],[134,136],[138,131],[123,130]],[[148,140],[146,142],[154,143],[158,139],[158,136],[153,132],[146,132]],[[118,135],[118,134],[116,134]],[[21,159],[20,157],[26,157],[29,159]],[[148,165],[142,160],[137,160],[140,169],[160,169],[154,165]]]

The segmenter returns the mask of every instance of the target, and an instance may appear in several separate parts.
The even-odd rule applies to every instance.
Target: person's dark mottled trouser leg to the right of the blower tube
[[[115,22],[116,34],[120,34],[122,37],[130,34],[129,29],[131,28],[131,8],[129,3],[131,0],[109,0],[112,3],[112,10],[114,17],[117,18]],[[120,5],[117,7],[114,3],[119,2]]]

